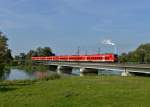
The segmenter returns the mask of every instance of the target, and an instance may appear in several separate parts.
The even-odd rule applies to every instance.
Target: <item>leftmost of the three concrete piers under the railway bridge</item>
[[[72,69],[73,69],[73,67],[69,67],[69,66],[58,66],[57,67],[57,73],[59,73],[59,74],[61,74],[61,73],[71,74]]]

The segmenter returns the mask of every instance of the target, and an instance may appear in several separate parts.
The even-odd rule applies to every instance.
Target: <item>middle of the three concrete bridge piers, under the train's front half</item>
[[[98,69],[94,68],[80,68],[80,76],[98,75]]]

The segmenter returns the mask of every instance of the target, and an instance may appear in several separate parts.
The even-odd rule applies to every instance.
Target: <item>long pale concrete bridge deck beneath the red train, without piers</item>
[[[121,71],[130,73],[150,74],[150,64],[119,64],[119,63],[84,63],[84,62],[43,62],[45,65],[68,66],[75,68],[92,68],[100,70]]]

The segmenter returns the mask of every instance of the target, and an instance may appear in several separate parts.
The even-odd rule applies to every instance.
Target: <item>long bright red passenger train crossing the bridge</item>
[[[49,61],[68,61],[68,62],[117,62],[116,54],[96,54],[96,55],[65,55],[65,56],[47,56],[32,57],[32,60],[49,60]]]

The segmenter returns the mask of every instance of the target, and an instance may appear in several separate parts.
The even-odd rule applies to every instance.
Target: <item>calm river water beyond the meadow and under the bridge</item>
[[[46,72],[40,72],[40,71],[32,72],[32,71],[30,71],[29,72],[29,71],[20,70],[20,69],[10,69],[10,70],[4,71],[4,72],[0,72],[0,80],[36,79],[36,78],[46,77],[48,75],[51,75],[52,73],[54,73],[54,71],[46,71]],[[80,76],[80,71],[79,71],[79,69],[75,68],[72,70],[72,74],[69,74],[69,75]],[[121,72],[99,70],[98,75],[121,75]]]

